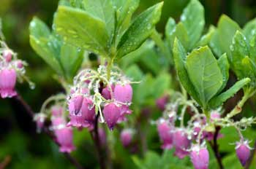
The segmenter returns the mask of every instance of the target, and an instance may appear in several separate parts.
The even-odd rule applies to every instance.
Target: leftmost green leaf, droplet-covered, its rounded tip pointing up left
[[[56,52],[56,50],[59,50],[56,49],[59,45],[56,47],[56,44],[51,41],[53,36],[51,36],[48,26],[37,17],[34,17],[29,25],[29,31],[29,42],[34,51],[36,51],[53,70],[58,74],[62,74],[63,71],[58,60],[58,52]]]

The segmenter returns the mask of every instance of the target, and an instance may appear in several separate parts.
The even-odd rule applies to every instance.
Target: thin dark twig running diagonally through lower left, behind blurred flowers
[[[19,94],[16,95],[16,96],[15,96],[15,100],[18,101],[18,102],[24,107],[24,109],[26,110],[26,112],[31,116],[31,118],[34,119],[34,111],[31,109],[31,107],[29,106],[29,104],[26,103],[26,101],[24,101],[24,99],[22,98],[22,96],[19,95]],[[54,142],[55,144],[57,144],[58,146],[60,146],[59,143],[56,141],[56,138],[55,138],[55,136],[53,135],[53,133],[51,133],[50,130],[48,130],[47,127],[43,127],[42,130],[44,131],[44,133],[46,133],[46,135],[48,135],[48,136],[53,140],[53,142]],[[64,154],[64,156],[69,160],[69,162],[71,162],[73,165],[75,165],[76,168],[78,168],[78,169],[84,169],[84,168],[82,167],[82,165],[80,165],[80,163],[79,163],[77,160],[75,160],[75,158],[72,157],[69,153],[63,153],[63,154]]]

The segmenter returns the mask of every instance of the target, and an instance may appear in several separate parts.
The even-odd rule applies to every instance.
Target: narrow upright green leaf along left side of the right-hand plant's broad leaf
[[[176,66],[176,70],[178,73],[178,78],[181,81],[182,86],[187,90],[187,93],[192,96],[192,98],[197,101],[198,104],[202,105],[200,99],[198,98],[198,94],[195,91],[195,87],[192,82],[188,78],[189,75],[185,68],[185,63],[187,59],[187,52],[184,50],[181,42],[176,38],[173,43],[173,58]]]

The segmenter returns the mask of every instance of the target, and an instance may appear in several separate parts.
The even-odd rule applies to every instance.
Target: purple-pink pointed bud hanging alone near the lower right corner
[[[241,140],[240,142],[236,143],[236,155],[240,160],[241,165],[246,165],[250,152],[251,148],[249,147],[248,141]]]

